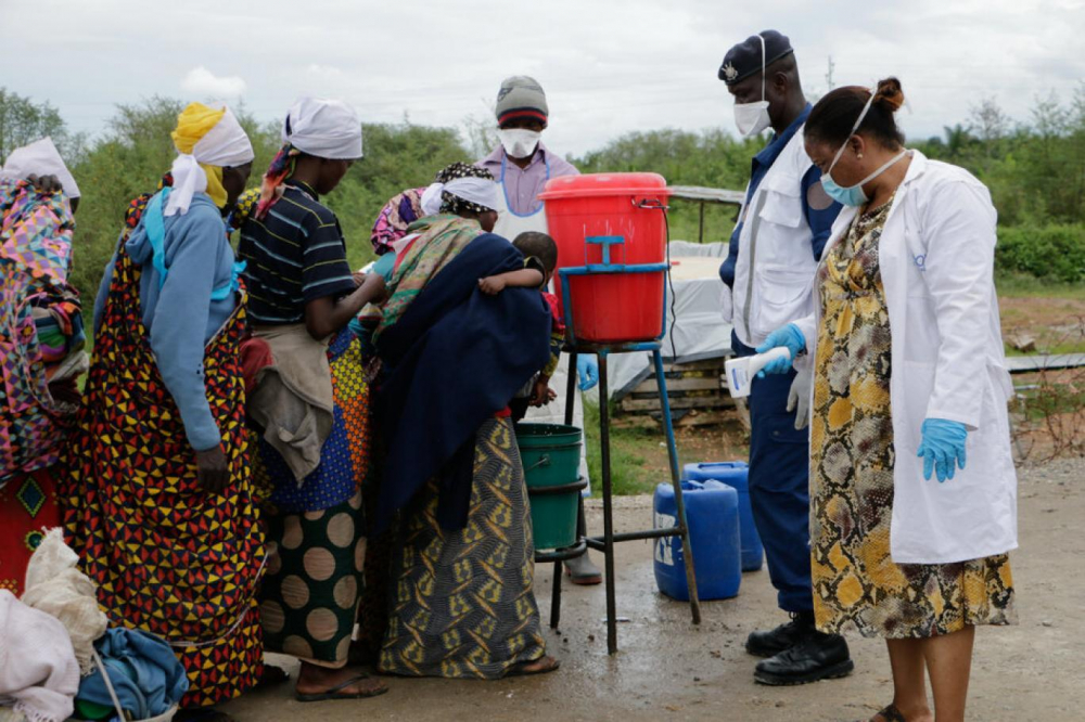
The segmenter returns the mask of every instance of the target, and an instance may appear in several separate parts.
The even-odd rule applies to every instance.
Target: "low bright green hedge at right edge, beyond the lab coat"
[[[1063,283],[1085,281],[1085,224],[999,228],[995,267]]]

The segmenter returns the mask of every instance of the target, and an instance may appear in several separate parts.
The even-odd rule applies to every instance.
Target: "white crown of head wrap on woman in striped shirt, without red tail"
[[[353,160],[361,157],[361,120],[343,101],[302,98],[286,114],[282,141],[318,158]]]

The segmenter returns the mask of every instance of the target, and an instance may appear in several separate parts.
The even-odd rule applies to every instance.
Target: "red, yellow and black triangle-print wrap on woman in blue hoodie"
[[[230,482],[199,484],[180,412],[141,319],[140,268],[120,247],[62,479],[67,541],[112,623],[166,640],[182,707],[215,705],[263,672],[256,592],[264,538],[253,500],[240,344],[245,297],[207,344],[204,383]]]

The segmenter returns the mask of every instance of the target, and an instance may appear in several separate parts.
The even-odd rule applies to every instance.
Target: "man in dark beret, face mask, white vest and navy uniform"
[[[769,333],[812,311],[814,270],[840,204],[825,193],[821,172],[803,146],[810,105],[787,36],[765,30],[746,38],[727,51],[718,77],[735,98],[735,121],[744,137],[774,131],[753,157],[719,269],[727,286],[724,318],[733,324],[731,347],[737,356],[751,356]],[[754,672],[763,684],[804,684],[853,669],[844,639],[814,628],[808,384],[808,375],[791,371],[755,379],[750,396],[750,501],[777,602],[791,615],[790,622],[746,640],[750,654],[767,658]]]

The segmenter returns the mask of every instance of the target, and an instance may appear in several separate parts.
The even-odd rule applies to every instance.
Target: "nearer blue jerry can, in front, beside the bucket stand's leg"
[[[681,488],[697,565],[698,596],[702,599],[736,596],[742,582],[738,492],[720,481],[682,481]],[[655,487],[654,510],[654,528],[675,526],[678,511],[669,484]],[[656,585],[672,598],[688,601],[681,538],[665,537],[656,539],[654,544]]]

